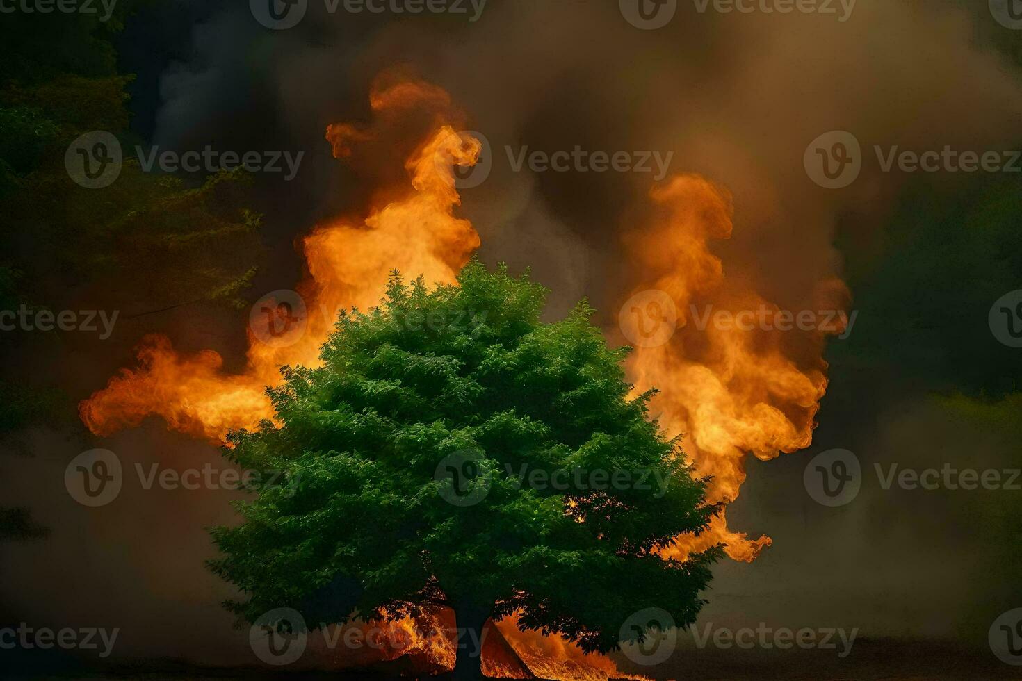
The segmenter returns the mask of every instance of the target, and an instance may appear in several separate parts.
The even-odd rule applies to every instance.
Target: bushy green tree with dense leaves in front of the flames
[[[344,623],[445,603],[462,641],[520,611],[587,651],[615,648],[642,609],[694,622],[717,551],[657,549],[715,508],[649,419],[652,391],[630,397],[628,350],[585,301],[541,323],[546,290],[527,275],[473,262],[459,283],[430,292],[394,273],[380,307],[340,315],[325,366],[282,370],[281,427],[230,436],[228,458],[287,484],[213,530],[212,569],[246,596],[227,606]],[[456,678],[479,678],[473,652],[459,649]]]

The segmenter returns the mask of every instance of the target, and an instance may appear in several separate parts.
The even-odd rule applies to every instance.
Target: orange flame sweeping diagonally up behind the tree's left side
[[[82,421],[93,433],[112,435],[150,415],[161,417],[173,430],[216,443],[232,428],[253,429],[273,417],[264,391],[279,382],[279,367],[319,366],[320,346],[337,313],[376,304],[391,270],[413,278],[422,275],[431,284],[456,281],[479,246],[479,236],[468,221],[454,216],[460,198],[453,166],[474,164],[481,144],[462,139],[447,123],[456,112],[445,110],[450,106],[447,93],[428,84],[398,82],[378,88],[371,104],[383,120],[382,130],[330,126],[326,137],[335,156],[350,154],[352,143],[392,135],[401,109],[434,108],[434,125],[406,163],[410,187],[388,188],[397,197],[366,217],[321,225],[305,238],[309,275],[298,293],[306,317],[296,333],[283,342],[264,342],[258,333],[264,330],[250,325],[248,361],[241,375],[225,374],[223,358],[213,350],[185,357],[167,337],[149,336],[138,350],[141,368],[122,370],[80,405]]]

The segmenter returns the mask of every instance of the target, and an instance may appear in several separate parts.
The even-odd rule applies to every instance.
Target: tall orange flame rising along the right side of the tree
[[[707,502],[727,504],[745,482],[746,453],[768,460],[811,442],[827,389],[823,339],[842,329],[816,332],[809,350],[801,348],[807,356],[796,360],[790,334],[776,325],[764,330],[745,324],[743,330],[707,323],[708,314],[721,310],[764,309],[768,320],[780,310],[741,280],[729,280],[709,250],[711,239],[731,237],[733,210],[725,190],[682,175],[651,196],[659,210],[654,224],[626,237],[630,271],[642,275],[620,317],[624,334],[638,340],[628,370],[637,391],[662,390],[652,410],[668,434],[685,434],[696,474],[713,477]],[[844,292],[839,283],[829,286],[823,294]],[[679,537],[667,553],[684,557],[724,543],[730,557],[751,562],[771,542],[732,532],[722,510],[700,536]]]

